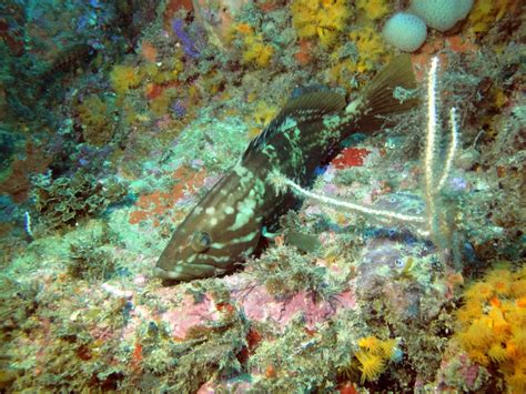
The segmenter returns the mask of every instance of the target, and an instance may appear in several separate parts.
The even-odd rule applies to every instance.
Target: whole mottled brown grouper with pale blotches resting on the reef
[[[292,192],[276,190],[272,174],[310,188],[316,169],[337,155],[344,139],[373,133],[390,115],[415,107],[416,99],[395,97],[397,87],[416,87],[408,54],[395,58],[348,103],[331,91],[291,99],[178,226],[155,275],[190,281],[233,271],[256,250],[263,229],[299,206]]]

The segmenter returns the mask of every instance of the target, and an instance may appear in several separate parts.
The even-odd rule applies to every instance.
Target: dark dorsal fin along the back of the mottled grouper
[[[257,152],[265,143],[272,142],[273,137],[282,132],[290,121],[295,121],[299,125],[316,122],[324,115],[343,111],[345,105],[343,95],[330,91],[308,92],[290,99],[277,117],[250,142],[241,160],[249,160],[251,153]]]

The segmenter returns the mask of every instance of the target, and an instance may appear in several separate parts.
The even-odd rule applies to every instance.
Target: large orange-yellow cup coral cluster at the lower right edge
[[[526,267],[495,269],[464,296],[456,340],[473,361],[498,367],[510,391],[526,391]]]

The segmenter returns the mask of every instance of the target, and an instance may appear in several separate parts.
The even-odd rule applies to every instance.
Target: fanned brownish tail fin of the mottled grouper
[[[376,74],[358,98],[364,112],[357,119],[355,131],[380,131],[383,124],[390,123],[391,115],[416,107],[418,99],[415,89],[411,55],[401,54]]]

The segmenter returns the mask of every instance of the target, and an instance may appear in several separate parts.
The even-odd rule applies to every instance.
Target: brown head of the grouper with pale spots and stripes
[[[156,263],[156,276],[190,281],[221,275],[255,250],[261,236],[255,208],[235,190],[225,190],[227,180],[220,181],[176,229]]]

